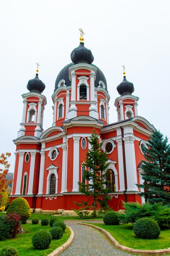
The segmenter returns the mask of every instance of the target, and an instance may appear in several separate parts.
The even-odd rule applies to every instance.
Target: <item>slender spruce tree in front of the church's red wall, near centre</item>
[[[93,216],[96,217],[97,208],[107,209],[107,201],[111,200],[108,193],[112,192],[111,188],[106,188],[108,181],[106,177],[108,175],[107,168],[109,166],[107,153],[101,150],[102,143],[99,142],[98,135],[93,130],[92,135],[89,138],[91,148],[88,150],[82,166],[86,167],[83,172],[83,182],[78,182],[79,191],[85,196],[88,196],[87,202],[83,204],[89,207],[93,207]],[[84,182],[85,181],[85,182]],[[91,203],[92,202],[92,203]]]

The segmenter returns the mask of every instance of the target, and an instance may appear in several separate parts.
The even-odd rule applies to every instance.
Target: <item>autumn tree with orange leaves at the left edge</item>
[[[8,184],[13,182],[13,180],[7,180],[7,173],[10,166],[7,159],[10,156],[11,153],[2,153],[0,155],[0,198],[2,198],[2,193],[7,190]]]

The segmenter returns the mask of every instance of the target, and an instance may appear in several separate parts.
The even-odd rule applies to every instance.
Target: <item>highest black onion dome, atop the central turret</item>
[[[88,64],[91,64],[94,61],[94,56],[89,49],[84,47],[84,43],[80,43],[77,48],[72,50],[71,60],[74,64],[80,62],[87,62]]]

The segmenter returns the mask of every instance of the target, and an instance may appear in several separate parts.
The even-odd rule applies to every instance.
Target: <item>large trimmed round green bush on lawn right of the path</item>
[[[160,235],[160,227],[157,221],[150,218],[141,218],[133,225],[133,231],[137,238],[154,239]]]

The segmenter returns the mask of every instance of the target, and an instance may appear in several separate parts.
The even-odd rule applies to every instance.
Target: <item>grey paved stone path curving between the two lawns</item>
[[[131,256],[115,248],[100,231],[77,222],[80,221],[65,221],[74,231],[74,241],[61,256]]]

